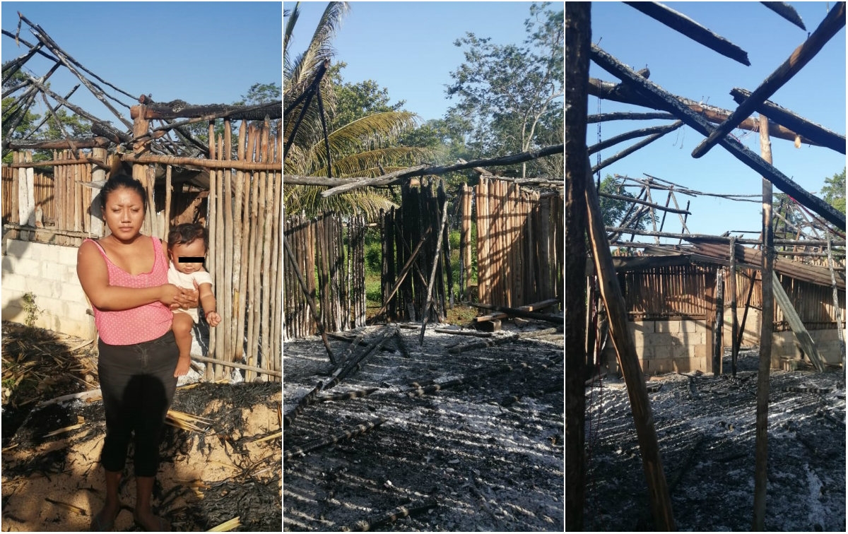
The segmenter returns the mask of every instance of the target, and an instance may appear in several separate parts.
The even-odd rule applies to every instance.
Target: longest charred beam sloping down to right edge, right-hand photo
[[[633,70],[627,65],[622,64],[616,58],[613,58],[610,54],[606,53],[594,44],[592,45],[592,58],[602,69],[608,70],[612,74],[620,76],[622,81],[638,87],[638,91],[644,92],[646,97],[650,97],[651,99],[656,100],[656,102],[664,103],[665,105],[673,108],[672,113],[674,113],[680,120],[683,120],[687,125],[694,128],[695,131],[698,131],[705,136],[709,135],[710,132],[713,131],[711,125],[703,117],[693,113],[688,107],[683,105],[677,97],[674,97],[672,94],[662,89],[660,86],[657,86],[652,81],[645,80],[633,72]],[[781,191],[789,193],[791,197],[794,197],[796,201],[806,206],[806,208],[812,209],[812,211],[821,215],[831,224],[834,224],[839,228],[845,228],[845,214],[840,213],[834,209],[833,206],[825,203],[821,198],[806,191],[806,189],[799,186],[795,183],[795,181],[792,181],[788,176],[775,169],[772,164],[767,163],[767,161],[762,159],[760,156],[752,153],[741,142],[728,136],[723,136],[718,142],[722,145],[722,147],[725,147],[728,152],[733,154],[736,159],[739,159],[739,161],[743,162],[760,175],[765,176],[768,181],[771,181],[775,186],[778,186]]]

